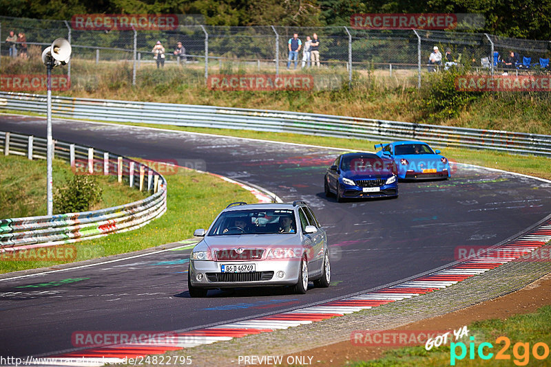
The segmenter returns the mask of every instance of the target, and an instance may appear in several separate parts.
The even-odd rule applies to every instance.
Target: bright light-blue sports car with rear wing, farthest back
[[[451,177],[448,159],[433,151],[424,142],[393,142],[375,144],[379,157],[394,160],[399,179],[448,179]]]

